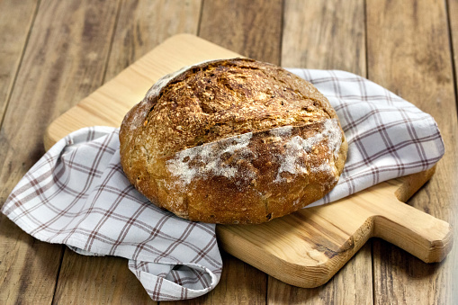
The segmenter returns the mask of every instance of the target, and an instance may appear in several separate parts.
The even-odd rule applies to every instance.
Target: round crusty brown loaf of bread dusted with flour
[[[121,166],[151,202],[188,220],[261,223],[336,184],[347,144],[309,82],[246,58],[160,79],[122,121]]]

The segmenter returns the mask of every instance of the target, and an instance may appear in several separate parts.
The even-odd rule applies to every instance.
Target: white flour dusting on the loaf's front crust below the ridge
[[[298,129],[300,127],[295,127]],[[283,173],[291,175],[308,175],[309,172],[327,172],[333,177],[336,175],[334,157],[342,143],[342,131],[337,120],[328,119],[322,123],[322,130],[309,138],[293,135],[292,126],[283,126],[269,130],[268,139],[272,144],[283,147],[283,154],[276,155],[276,150],[265,151],[271,154],[271,160],[278,163],[278,171],[274,183],[287,180]],[[259,133],[256,133],[256,137]],[[241,160],[245,164],[252,164],[257,157],[256,150],[249,147],[253,138],[252,132],[221,139],[202,146],[184,149],[175,154],[175,157],[166,161],[166,168],[175,176],[175,185],[182,189],[188,187],[196,179],[206,179],[211,176],[223,176],[235,182],[256,178],[256,168],[240,166]],[[328,158],[319,162],[310,162],[310,155],[318,145],[328,148]]]

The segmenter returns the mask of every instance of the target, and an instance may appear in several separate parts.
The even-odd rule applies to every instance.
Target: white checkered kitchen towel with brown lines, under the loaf
[[[349,143],[339,183],[311,206],[426,170],[443,156],[433,118],[380,85],[342,71],[290,70],[328,97]],[[22,178],[4,214],[40,240],[84,255],[128,258],[153,300],[211,291],[222,268],[214,225],[181,220],[148,203],[123,175],[118,148],[116,129],[68,135]]]

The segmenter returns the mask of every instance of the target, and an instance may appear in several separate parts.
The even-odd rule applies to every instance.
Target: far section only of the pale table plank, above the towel
[[[363,0],[286,0],[282,66],[366,76],[364,13]]]

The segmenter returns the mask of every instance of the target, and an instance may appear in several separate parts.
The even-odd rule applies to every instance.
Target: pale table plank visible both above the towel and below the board
[[[363,1],[287,0],[283,20],[283,67],[343,69],[365,76]],[[298,288],[269,277],[267,300],[273,304],[371,303],[370,243],[318,288]]]

